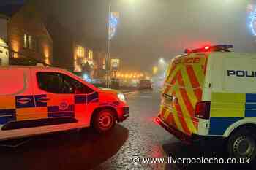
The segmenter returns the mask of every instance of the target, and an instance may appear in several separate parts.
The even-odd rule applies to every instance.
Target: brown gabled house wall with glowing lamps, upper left
[[[8,45],[12,51],[18,53],[15,58],[26,56],[43,63],[52,63],[53,41],[37,13],[33,1],[29,1],[28,4],[21,7],[10,18],[7,27]],[[25,34],[31,36],[31,47],[25,47]]]

